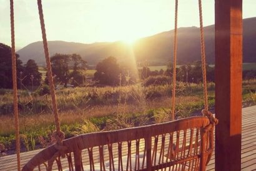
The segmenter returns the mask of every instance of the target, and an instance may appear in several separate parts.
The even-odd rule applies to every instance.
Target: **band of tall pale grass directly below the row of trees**
[[[209,90],[214,90],[214,84],[209,84]],[[7,92],[7,93],[4,93]],[[1,93],[2,92],[2,93]],[[177,95],[192,95],[202,92],[202,85],[177,84]],[[145,100],[172,96],[170,85],[119,86],[104,88],[74,88],[56,91],[57,104],[60,111],[92,108],[101,105],[137,104]],[[23,91],[19,93],[19,112],[22,115],[51,113],[51,97],[38,93]],[[7,90],[0,91],[0,114],[12,113],[12,94]]]

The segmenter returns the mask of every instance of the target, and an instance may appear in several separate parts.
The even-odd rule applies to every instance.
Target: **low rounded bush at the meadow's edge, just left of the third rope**
[[[150,86],[150,85],[169,85],[171,80],[169,76],[165,75],[158,75],[158,76],[149,76],[144,83],[143,86]]]

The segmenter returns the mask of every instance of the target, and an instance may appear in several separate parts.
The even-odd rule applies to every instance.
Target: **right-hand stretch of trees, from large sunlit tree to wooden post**
[[[96,80],[99,85],[110,86],[129,85],[137,83],[138,81],[149,80],[149,78],[152,80],[154,77],[155,79],[158,79],[155,81],[159,82],[162,80],[165,83],[171,83],[172,75],[172,63],[167,65],[166,70],[160,69],[152,71],[147,66],[141,67],[139,70],[134,70],[132,67],[121,67],[117,63],[116,58],[108,57],[98,63],[96,73],[94,74],[94,80]],[[162,76],[162,78],[160,76]],[[201,62],[177,67],[176,80],[189,83],[202,82]],[[207,65],[207,81],[214,81],[214,67],[209,67],[209,65]]]

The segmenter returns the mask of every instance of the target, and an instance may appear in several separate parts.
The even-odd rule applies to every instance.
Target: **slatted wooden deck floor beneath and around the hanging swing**
[[[256,106],[242,110],[242,170],[256,170]],[[21,165],[31,159],[40,150],[21,154]],[[207,166],[207,170],[214,170],[215,155]],[[16,155],[0,157],[0,170],[17,170]]]

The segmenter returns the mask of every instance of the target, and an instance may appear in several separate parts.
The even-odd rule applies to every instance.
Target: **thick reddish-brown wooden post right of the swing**
[[[240,170],[242,0],[215,0],[215,170]]]

